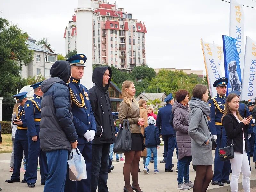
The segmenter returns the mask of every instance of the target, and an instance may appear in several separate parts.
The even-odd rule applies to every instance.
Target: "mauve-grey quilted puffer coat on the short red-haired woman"
[[[173,128],[177,131],[176,141],[177,141],[179,160],[180,160],[183,157],[192,156],[191,155],[191,138],[188,135],[188,125],[189,125],[188,106],[184,106],[175,100],[172,106],[172,114],[174,115]]]

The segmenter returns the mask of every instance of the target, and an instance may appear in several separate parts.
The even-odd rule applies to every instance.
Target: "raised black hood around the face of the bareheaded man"
[[[92,72],[92,82],[98,85],[99,87],[103,87],[103,75],[106,70],[109,70],[109,80],[108,84],[105,86],[105,89],[108,89],[109,84],[111,82],[112,70],[109,66],[96,67]]]

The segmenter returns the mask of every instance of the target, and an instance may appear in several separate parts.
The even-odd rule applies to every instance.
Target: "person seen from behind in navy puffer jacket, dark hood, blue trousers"
[[[44,192],[64,191],[68,151],[77,147],[77,133],[72,122],[68,84],[71,67],[68,61],[56,61],[49,78],[41,84],[40,147],[46,151],[48,177]]]

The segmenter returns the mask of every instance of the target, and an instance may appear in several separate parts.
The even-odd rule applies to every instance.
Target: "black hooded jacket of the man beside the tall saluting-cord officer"
[[[108,84],[103,87],[103,75],[107,69],[110,78]],[[93,144],[115,143],[116,140],[111,102],[108,96],[111,76],[112,70],[108,66],[96,67],[92,73],[92,82],[95,83],[95,86],[89,89],[89,98],[97,128]]]

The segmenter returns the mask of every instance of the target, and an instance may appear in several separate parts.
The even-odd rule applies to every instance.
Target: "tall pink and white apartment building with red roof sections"
[[[104,0],[91,0],[93,63],[132,69],[146,64],[145,24],[132,19],[132,14]],[[78,31],[78,33],[80,33]],[[81,32],[82,33],[82,32]],[[76,50],[76,15],[64,32],[66,53]],[[84,53],[86,55],[86,53]]]

